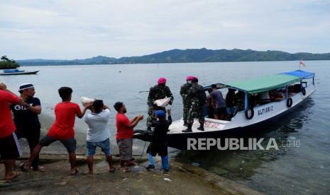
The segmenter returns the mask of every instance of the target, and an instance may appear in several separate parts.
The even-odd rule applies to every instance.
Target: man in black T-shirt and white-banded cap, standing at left
[[[38,145],[40,138],[40,122],[38,114],[41,113],[40,100],[34,98],[35,89],[31,83],[23,83],[20,85],[19,93],[23,105],[11,105],[13,111],[13,122],[16,125],[16,135],[19,138],[26,138],[28,146],[32,152],[33,148]],[[33,170],[45,171],[45,167],[38,165],[39,156],[33,160]]]

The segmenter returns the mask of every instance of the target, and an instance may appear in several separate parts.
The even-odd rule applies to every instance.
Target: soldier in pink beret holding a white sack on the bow
[[[158,85],[155,85],[150,88],[149,95],[148,95],[148,119],[147,119],[147,126],[148,131],[151,130],[151,122],[156,119],[155,111],[156,110],[163,110],[165,113],[165,107],[158,107],[154,104],[155,100],[160,100],[163,98],[170,98],[170,102],[168,102],[169,105],[172,105],[173,102],[173,95],[171,93],[170,88],[165,85],[166,79],[161,77],[158,79]]]

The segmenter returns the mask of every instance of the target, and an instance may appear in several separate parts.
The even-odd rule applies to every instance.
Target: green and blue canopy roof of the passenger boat
[[[243,90],[247,93],[262,93],[268,90],[282,88],[304,78],[313,78],[314,73],[307,71],[291,71],[286,73],[277,73],[270,76],[260,76],[259,78],[251,78],[243,81],[232,81],[229,83],[217,83],[217,88],[233,88]],[[205,90],[211,88],[206,86]]]

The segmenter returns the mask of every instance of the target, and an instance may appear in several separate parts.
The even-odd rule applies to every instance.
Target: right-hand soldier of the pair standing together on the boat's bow
[[[207,101],[204,87],[198,84],[198,78],[192,79],[192,87],[187,92],[187,102],[189,105],[189,114],[187,117],[188,129],[182,132],[192,132],[194,119],[198,119],[200,126],[198,130],[204,131],[204,106]]]

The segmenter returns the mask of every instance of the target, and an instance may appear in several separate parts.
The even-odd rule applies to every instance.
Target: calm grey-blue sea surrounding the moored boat
[[[329,194],[330,193],[330,61],[306,61],[306,71],[316,73],[317,92],[295,112],[275,124],[264,126],[256,137],[276,138],[277,141],[299,141],[299,147],[280,150],[249,151],[172,151],[172,158],[202,167],[223,177],[246,184],[266,194]],[[148,93],[160,76],[167,78],[175,97],[172,116],[180,119],[182,100],[179,90],[185,77],[197,76],[199,83],[210,85],[244,78],[253,78],[297,69],[297,61],[231,62],[191,64],[125,64],[88,66],[30,66],[22,69],[39,70],[37,75],[6,76],[2,80],[17,92],[21,83],[35,85],[35,97],[40,98],[42,124],[49,127],[54,119],[54,106],[60,102],[57,89],[73,88],[72,101],[80,96],[102,99],[112,108],[122,101],[128,117],[147,114]],[[80,104],[80,102],[79,102]],[[111,114],[112,140],[115,135],[115,112]],[[48,120],[45,120],[48,119]],[[48,121],[48,122],[45,122]],[[50,121],[50,122],[49,122]],[[145,119],[137,129],[145,129]],[[76,120],[76,130],[86,132],[82,119]],[[112,142],[114,143],[114,141]],[[136,141],[136,148],[143,148]]]

